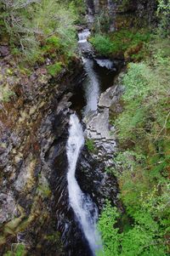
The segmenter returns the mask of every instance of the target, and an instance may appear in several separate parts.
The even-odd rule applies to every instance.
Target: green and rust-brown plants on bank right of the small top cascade
[[[141,49],[149,40],[149,31],[127,29],[110,33],[108,36],[96,34],[89,39],[99,54],[105,56],[119,54],[131,60],[140,60],[143,57]]]

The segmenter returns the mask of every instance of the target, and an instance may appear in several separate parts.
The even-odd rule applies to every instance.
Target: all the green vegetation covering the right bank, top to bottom
[[[122,77],[123,111],[112,120],[120,151],[113,159],[115,167],[106,171],[118,180],[119,198],[126,213],[120,213],[111,202],[106,202],[99,217],[106,256],[163,256],[169,253],[169,1],[159,1],[158,14],[161,22],[155,36],[135,35],[130,42],[130,33],[123,31],[127,38],[122,45],[125,57],[129,48],[140,42],[147,43],[147,52],[144,48],[143,60],[127,65],[127,72]],[[121,40],[122,31],[120,35]],[[114,37],[116,40],[116,34]],[[117,41],[116,51],[121,44]],[[136,60],[132,57],[130,60]]]

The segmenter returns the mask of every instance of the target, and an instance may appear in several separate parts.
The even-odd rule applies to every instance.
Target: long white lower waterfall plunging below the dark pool
[[[87,238],[89,247],[95,255],[95,252],[102,247],[99,234],[95,228],[98,219],[98,210],[91,198],[82,193],[75,177],[77,159],[83,145],[84,136],[82,125],[77,115],[72,114],[70,117],[69,138],[66,147],[69,201],[77,217],[77,221],[81,225],[82,231]]]

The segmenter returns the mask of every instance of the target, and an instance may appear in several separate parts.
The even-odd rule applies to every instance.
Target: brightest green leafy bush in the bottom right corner
[[[100,252],[97,255],[166,255],[161,226],[157,225],[150,214],[145,211],[139,212],[134,225],[123,231],[116,227],[117,218],[120,218],[120,214],[116,208],[112,208],[111,203],[106,202],[98,224],[105,253]]]

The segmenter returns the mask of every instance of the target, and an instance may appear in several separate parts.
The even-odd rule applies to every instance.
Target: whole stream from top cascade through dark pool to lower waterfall
[[[90,32],[86,29],[78,34],[79,48],[82,52],[82,62],[86,77],[82,82],[82,92],[78,91],[72,98],[72,102],[78,102],[80,97],[81,105],[74,105],[74,109],[81,111],[81,116],[86,117],[89,113],[97,111],[99,95],[111,86],[116,69],[111,60],[95,59],[88,55],[92,51],[88,43]],[[102,70],[102,71],[101,71]],[[103,71],[104,70],[104,71]],[[104,78],[102,80],[102,78]],[[105,82],[106,85],[105,85]],[[82,104],[83,102],[83,104]],[[102,250],[102,242],[99,231],[96,228],[99,217],[99,210],[93,202],[93,199],[82,192],[76,179],[77,160],[80,157],[82,148],[85,143],[82,124],[77,113],[71,114],[69,123],[69,137],[66,145],[66,156],[68,161],[67,181],[69,203],[75,214],[75,220],[80,226],[85,236],[91,255],[95,256],[99,250]]]

